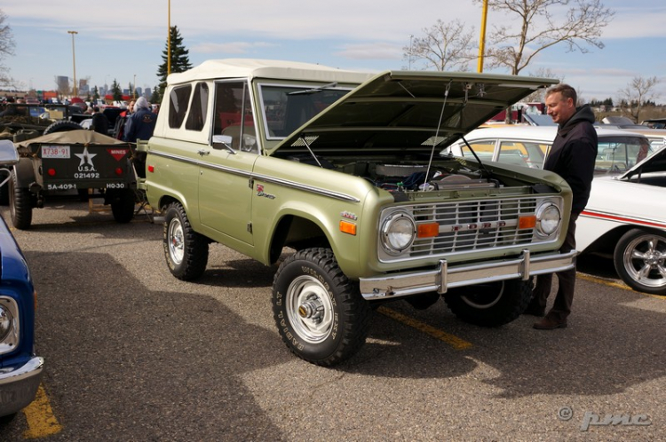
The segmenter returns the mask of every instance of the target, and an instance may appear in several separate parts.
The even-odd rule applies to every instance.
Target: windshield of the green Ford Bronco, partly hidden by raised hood
[[[268,139],[281,139],[311,120],[351,89],[328,89],[313,84],[259,84],[262,118]]]

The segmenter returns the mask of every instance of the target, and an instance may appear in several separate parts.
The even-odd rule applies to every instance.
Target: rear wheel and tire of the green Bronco
[[[164,218],[164,257],[171,274],[178,280],[199,278],[208,264],[208,240],[194,232],[180,203],[171,203]]]

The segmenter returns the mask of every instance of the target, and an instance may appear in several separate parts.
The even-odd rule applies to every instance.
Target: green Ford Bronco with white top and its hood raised
[[[194,280],[218,242],[274,276],[274,320],[298,357],[331,366],[373,307],[444,297],[462,320],[516,319],[560,254],[571,190],[543,170],[441,155],[544,78],[210,60],[170,75],[147,152],[170,272]],[[284,250],[284,248],[288,248]]]

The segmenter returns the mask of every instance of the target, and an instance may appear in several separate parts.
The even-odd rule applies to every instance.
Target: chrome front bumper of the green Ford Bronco
[[[361,278],[361,295],[367,300],[386,299],[419,293],[444,294],[448,288],[472,286],[497,280],[528,280],[530,276],[554,273],[575,267],[576,250],[531,257],[523,250],[520,257],[483,264],[449,266],[441,259],[436,270],[429,272],[391,273],[375,278]]]

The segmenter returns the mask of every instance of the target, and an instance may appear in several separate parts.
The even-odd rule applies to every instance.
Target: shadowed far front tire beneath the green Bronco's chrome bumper
[[[532,298],[532,280],[501,280],[453,288],[444,295],[451,312],[471,324],[498,327],[517,319]]]

